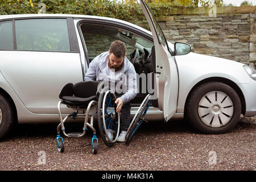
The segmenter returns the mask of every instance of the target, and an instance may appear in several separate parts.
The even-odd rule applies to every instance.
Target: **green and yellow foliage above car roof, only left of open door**
[[[41,4],[41,6],[39,6]],[[110,0],[0,0],[0,14],[35,14],[46,9],[46,13],[84,14],[128,19],[138,5],[125,8]]]

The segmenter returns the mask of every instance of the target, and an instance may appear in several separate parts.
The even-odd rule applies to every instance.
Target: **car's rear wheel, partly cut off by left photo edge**
[[[0,139],[9,133],[14,122],[13,108],[9,101],[0,94]]]

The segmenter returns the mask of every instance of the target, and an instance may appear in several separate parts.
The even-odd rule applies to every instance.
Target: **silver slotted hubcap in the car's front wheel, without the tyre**
[[[226,125],[233,116],[234,106],[231,98],[220,91],[213,91],[201,98],[198,113],[201,121],[210,127]]]

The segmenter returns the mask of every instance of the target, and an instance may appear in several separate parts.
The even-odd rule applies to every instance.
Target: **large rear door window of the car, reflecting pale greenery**
[[[67,19],[15,20],[17,50],[70,52]]]

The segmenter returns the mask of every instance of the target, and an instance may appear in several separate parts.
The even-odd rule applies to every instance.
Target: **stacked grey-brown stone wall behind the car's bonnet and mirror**
[[[255,69],[256,62],[256,7],[240,13],[221,9],[174,14],[158,19],[170,42],[185,42],[192,52],[240,61]],[[185,12],[186,13],[186,12]]]

